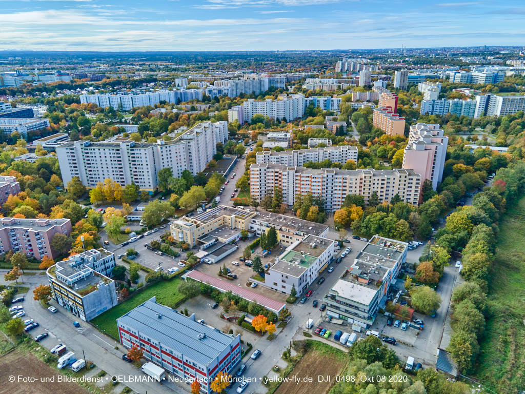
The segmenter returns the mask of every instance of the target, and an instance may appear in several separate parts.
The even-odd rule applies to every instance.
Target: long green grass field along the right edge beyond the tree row
[[[500,221],[476,375],[497,392],[525,388],[525,198]]]

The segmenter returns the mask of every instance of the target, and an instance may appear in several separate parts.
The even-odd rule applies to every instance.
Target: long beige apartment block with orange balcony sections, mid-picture
[[[380,202],[389,202],[398,194],[402,201],[417,205],[421,191],[421,175],[411,169],[395,170],[313,170],[279,164],[250,165],[251,198],[260,201],[272,194],[274,187],[282,190],[283,203],[292,206],[298,194],[312,193],[322,198],[326,211],[341,208],[347,194],[364,196],[367,203],[375,191]]]

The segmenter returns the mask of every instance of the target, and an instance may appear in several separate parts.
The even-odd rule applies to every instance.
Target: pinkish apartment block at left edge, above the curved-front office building
[[[69,219],[0,218],[0,254],[20,252],[36,260],[44,256],[55,258],[58,252],[51,248],[55,234],[71,234]]]

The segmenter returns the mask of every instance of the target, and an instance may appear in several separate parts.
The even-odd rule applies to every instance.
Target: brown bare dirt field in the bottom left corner
[[[14,350],[0,358],[0,394],[89,394],[76,383],[57,382],[60,372],[38,358],[20,350]],[[10,376],[36,378],[33,382],[9,381]],[[61,375],[64,376],[64,375]],[[45,381],[53,379],[55,381]],[[40,380],[41,379],[41,380]]]

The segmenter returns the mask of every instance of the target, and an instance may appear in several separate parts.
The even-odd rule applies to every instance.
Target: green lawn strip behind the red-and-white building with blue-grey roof
[[[184,296],[177,292],[177,286],[181,281],[182,279],[180,278],[174,278],[171,281],[157,282],[146,288],[144,291],[135,294],[127,301],[112,307],[103,314],[97,316],[95,319],[92,319],[91,323],[104,333],[107,333],[114,338],[118,338],[117,318],[128,313],[131,309],[139,306],[151,297],[156,296],[156,300],[159,304],[167,305],[169,307],[178,305],[178,303],[184,299]]]

